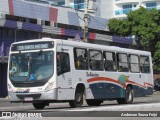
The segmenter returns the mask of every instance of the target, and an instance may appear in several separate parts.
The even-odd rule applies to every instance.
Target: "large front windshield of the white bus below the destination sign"
[[[11,54],[9,78],[13,82],[45,81],[54,73],[53,63],[53,51]]]

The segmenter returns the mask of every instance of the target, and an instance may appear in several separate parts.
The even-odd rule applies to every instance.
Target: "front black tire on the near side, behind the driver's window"
[[[75,99],[69,101],[69,105],[72,108],[81,107],[83,105],[83,94],[84,90],[76,89]]]

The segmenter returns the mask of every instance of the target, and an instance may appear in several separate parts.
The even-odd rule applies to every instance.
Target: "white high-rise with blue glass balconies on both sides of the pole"
[[[50,5],[66,6],[84,10],[85,0],[24,0],[34,2],[47,2]],[[101,18],[125,19],[126,14],[138,9],[140,6],[150,9],[160,9],[159,0],[88,0],[89,9]]]

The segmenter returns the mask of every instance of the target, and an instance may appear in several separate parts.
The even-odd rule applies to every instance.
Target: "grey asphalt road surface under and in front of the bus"
[[[154,119],[157,119],[157,116],[160,117],[160,92],[155,92],[152,96],[135,98],[134,103],[130,105],[118,105],[116,101],[105,101],[98,107],[89,107],[85,103],[80,108],[70,108],[68,103],[53,103],[50,104],[50,106],[45,107],[43,110],[35,110],[30,103],[10,103],[6,98],[0,99],[0,111],[40,113],[41,116],[47,117],[47,120],[55,118],[62,120],[65,118],[65,120],[67,120],[69,118],[73,119],[74,117],[76,117],[76,119],[87,118],[87,120],[90,120],[92,117],[92,120],[97,120],[97,118],[98,120],[106,120],[106,118],[112,120],[113,117],[115,119],[127,119],[127,116],[122,116],[122,113],[126,114],[126,112],[129,112],[130,114],[139,114],[139,112],[144,115],[152,114],[153,116],[150,117],[155,117]],[[143,118],[144,116],[138,117]],[[146,117],[148,118],[148,116]],[[129,118],[132,120],[135,117],[129,116]]]

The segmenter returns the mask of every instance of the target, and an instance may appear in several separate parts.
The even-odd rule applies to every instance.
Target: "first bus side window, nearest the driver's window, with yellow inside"
[[[74,48],[74,64],[78,70],[88,70],[87,49]]]

